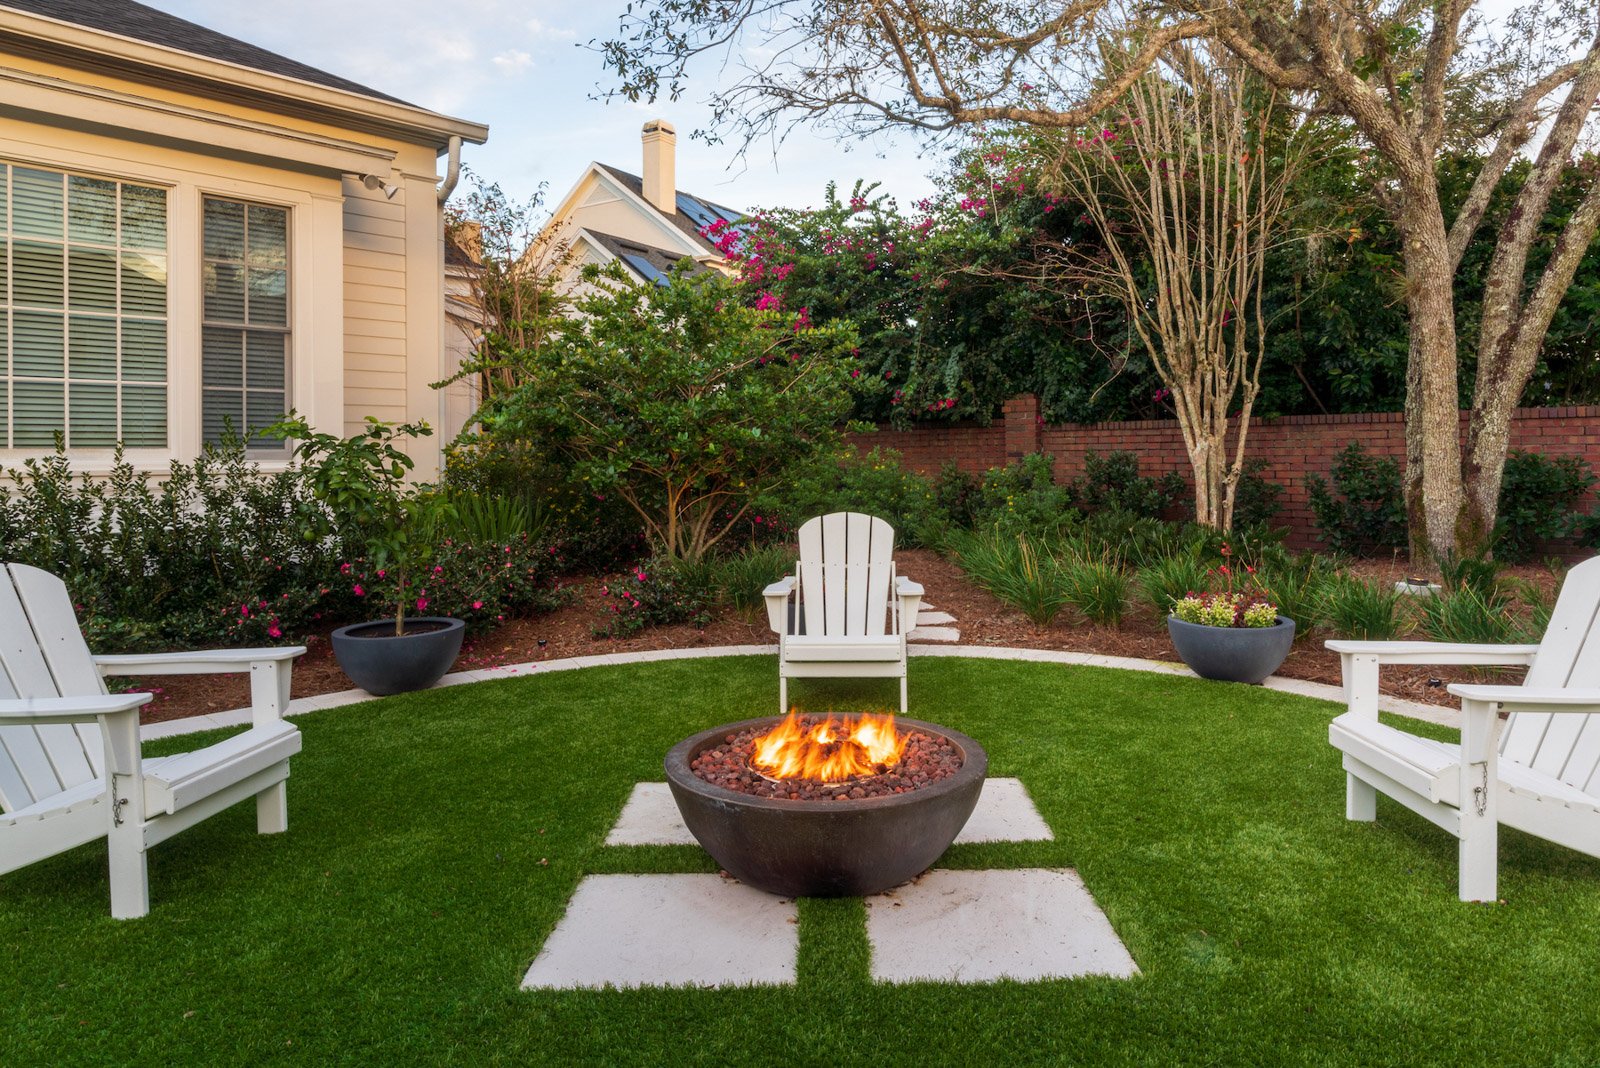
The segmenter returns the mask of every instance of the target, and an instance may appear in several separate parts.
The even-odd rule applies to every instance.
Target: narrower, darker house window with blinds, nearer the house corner
[[[286,411],[290,213],[205,198],[200,422],[206,441]]]

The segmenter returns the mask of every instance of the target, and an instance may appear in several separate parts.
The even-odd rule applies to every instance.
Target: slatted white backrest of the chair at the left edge
[[[106,692],[66,584],[27,564],[0,568],[0,697]],[[14,812],[104,772],[99,726],[0,726],[0,811]]]

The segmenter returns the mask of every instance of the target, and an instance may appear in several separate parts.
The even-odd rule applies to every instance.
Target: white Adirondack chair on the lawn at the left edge
[[[256,798],[256,830],[288,830],[283,780],[299,731],[283,723],[302,646],[90,654],[61,579],[0,566],[0,875],[96,838],[110,846],[110,915],[150,911],[146,849]],[[250,671],[253,726],[194,753],[142,759],[139,707],[104,675]]]

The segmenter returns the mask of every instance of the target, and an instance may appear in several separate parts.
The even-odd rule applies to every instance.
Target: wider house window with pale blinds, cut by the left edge
[[[166,190],[0,163],[0,448],[166,446]]]

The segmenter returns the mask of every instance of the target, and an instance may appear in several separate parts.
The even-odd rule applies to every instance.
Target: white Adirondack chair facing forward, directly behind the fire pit
[[[894,528],[859,512],[806,520],[795,574],[765,595],[779,711],[789,710],[792,678],[898,678],[906,711],[906,633],[922,587],[894,574]]]

